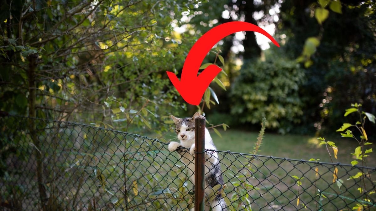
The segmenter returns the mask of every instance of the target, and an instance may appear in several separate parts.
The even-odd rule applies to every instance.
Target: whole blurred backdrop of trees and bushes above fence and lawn
[[[167,131],[168,115],[190,116],[197,108],[182,100],[165,71],[180,77],[194,42],[229,21],[263,27],[281,47],[252,32],[215,46],[227,76],[218,76],[226,91],[211,85],[220,103],[205,110],[212,124],[252,129],[265,116],[269,130],[327,133],[340,127],[352,102],[376,113],[372,0],[4,0],[0,6],[5,113]]]

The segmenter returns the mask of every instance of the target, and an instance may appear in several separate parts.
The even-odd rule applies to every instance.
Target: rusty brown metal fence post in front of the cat
[[[205,117],[195,119],[195,150],[194,157],[194,210],[204,211],[205,196]]]

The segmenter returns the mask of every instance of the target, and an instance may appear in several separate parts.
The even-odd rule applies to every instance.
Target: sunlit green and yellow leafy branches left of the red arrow
[[[197,38],[186,36],[182,42],[171,27],[187,7],[193,3],[46,0],[2,5],[0,77],[6,86],[0,86],[0,110],[26,115],[32,87],[40,118],[95,119],[92,123],[101,127],[167,131],[161,116],[185,105],[177,101],[165,71],[182,67]]]

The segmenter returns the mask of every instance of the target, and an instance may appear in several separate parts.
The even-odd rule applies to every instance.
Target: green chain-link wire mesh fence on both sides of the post
[[[35,131],[28,129],[30,120]],[[0,210],[194,206],[188,179],[194,172],[158,139],[21,116],[0,117],[0,139]],[[213,192],[227,210],[376,209],[375,168],[215,152],[224,184]]]

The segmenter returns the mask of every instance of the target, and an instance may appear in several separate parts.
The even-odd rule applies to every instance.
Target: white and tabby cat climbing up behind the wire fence
[[[200,116],[199,112],[196,112],[192,118],[176,118],[171,115],[171,119],[175,122],[175,132],[177,138],[180,140],[178,142],[171,142],[168,144],[168,150],[170,152],[177,151],[182,157],[182,162],[188,167],[188,175],[190,175],[190,180],[194,184],[194,155],[195,155],[195,118]],[[190,148],[189,153],[184,149],[179,149],[179,146],[184,148]],[[205,149],[216,149],[213,140],[209,134],[208,129],[205,128]],[[205,152],[205,195],[208,196],[209,193],[212,194],[212,187],[215,185],[223,185],[223,178],[220,163],[218,160],[218,154],[216,151]],[[210,186],[210,187],[209,187]],[[209,196],[210,197],[210,196]],[[218,194],[213,201],[205,203],[205,211],[209,211],[212,207],[212,211],[227,211],[226,202]],[[191,211],[193,211],[191,209]]]

